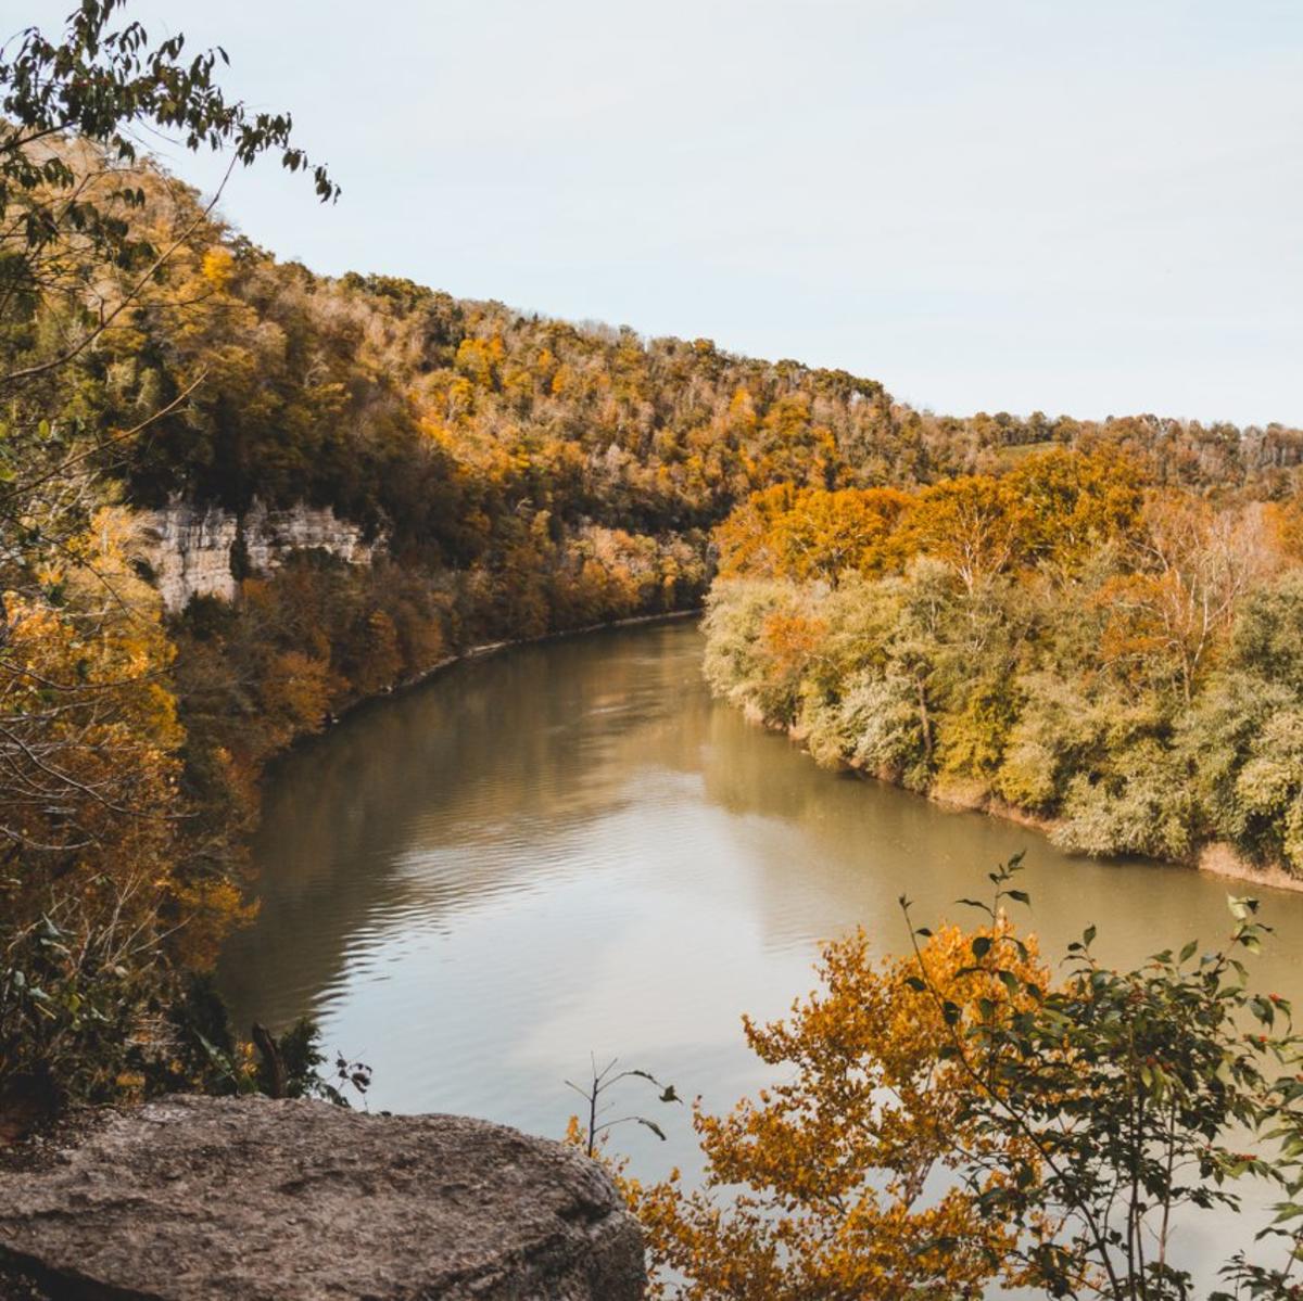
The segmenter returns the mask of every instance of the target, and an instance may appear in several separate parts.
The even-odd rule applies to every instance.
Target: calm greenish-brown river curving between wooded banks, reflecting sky
[[[727,1108],[766,1078],[740,1014],[782,1014],[822,939],[907,940],[975,914],[1025,850],[1032,929],[1059,953],[1088,923],[1138,960],[1229,926],[1235,882],[1100,863],[1033,831],[818,770],[713,702],[678,621],[517,647],[371,703],[271,775],[255,844],[262,909],[224,955],[241,1029],[319,1018],[374,1068],[373,1108],[486,1116],[560,1136],[598,1064],[650,1070]],[[1277,938],[1259,987],[1303,995],[1303,895],[1257,891]],[[625,1081],[614,1136],[636,1173],[692,1167],[684,1110]],[[1191,1231],[1194,1233],[1194,1231]],[[1243,1222],[1192,1250],[1248,1245]]]

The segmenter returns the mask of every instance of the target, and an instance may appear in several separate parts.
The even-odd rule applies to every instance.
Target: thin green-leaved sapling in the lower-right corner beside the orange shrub
[[[988,916],[1006,899],[1025,901],[1009,886],[1015,869],[992,874],[994,901],[977,905]],[[1200,953],[1191,940],[1123,972],[1096,957],[1087,927],[1053,990],[1029,987],[1015,969],[1012,935],[972,942],[976,969],[1028,1000],[998,1024],[946,1014],[941,1050],[967,1082],[962,1113],[981,1136],[964,1186],[984,1216],[1019,1229],[1005,1258],[1010,1281],[1055,1297],[1186,1298],[1192,1278],[1171,1237],[1182,1207],[1238,1211],[1227,1185],[1244,1175],[1296,1192],[1298,1150],[1278,1140],[1303,1120],[1299,1046],[1289,1004],[1247,988],[1240,955],[1257,952],[1268,931],[1256,901],[1231,899],[1230,910],[1221,949]],[[924,979],[945,1013],[947,991]],[[1255,1021],[1264,1033],[1246,1034]],[[1283,1220],[1295,1215],[1282,1209]],[[1286,1233],[1298,1252],[1303,1240]],[[1227,1272],[1255,1274],[1243,1257]]]

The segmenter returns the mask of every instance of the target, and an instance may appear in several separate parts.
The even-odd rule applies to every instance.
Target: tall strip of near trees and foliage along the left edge
[[[61,42],[0,49],[0,1108],[149,1087],[177,973],[242,912],[189,854],[175,647],[103,477],[184,399],[103,393],[211,229],[136,132],[309,164],[287,116],[224,96],[220,52],[182,60],[180,36],[115,29],[119,8],[85,0]]]

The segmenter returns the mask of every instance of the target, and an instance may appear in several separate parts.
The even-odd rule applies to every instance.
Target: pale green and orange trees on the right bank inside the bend
[[[1225,840],[1303,871],[1300,580],[1261,505],[1145,487],[1108,447],[1032,453],[899,494],[857,568],[831,544],[777,564],[833,496],[773,488],[721,526],[721,695],[821,763],[1012,805],[1070,849]]]

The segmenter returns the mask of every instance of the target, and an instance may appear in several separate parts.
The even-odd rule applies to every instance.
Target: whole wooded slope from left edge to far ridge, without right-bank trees
[[[1156,488],[1234,503],[1289,495],[1303,458],[1277,426],[936,417],[708,340],[319,277],[151,165],[99,193],[94,151],[59,156],[121,237],[109,263],[60,233],[3,302],[7,944],[23,990],[68,1001],[53,1030],[27,994],[0,1008],[18,1046],[0,1067],[74,1095],[240,1077],[193,1041],[160,1064],[132,1028],[246,914],[272,755],[469,645],[696,607],[711,530],[753,494],[912,490],[1106,447]],[[136,533],[177,503],[233,521],[238,587],[164,617]],[[356,525],[374,563],[309,550],[259,570],[242,522],[298,505]],[[137,970],[141,934],[162,956],[106,985]]]

